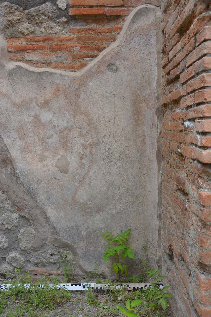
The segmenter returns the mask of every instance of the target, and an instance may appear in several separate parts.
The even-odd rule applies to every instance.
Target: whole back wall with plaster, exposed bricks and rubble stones
[[[130,273],[146,243],[160,266],[160,9],[144,4],[125,19],[135,4],[117,1],[112,18],[86,7],[72,17],[82,10],[73,2],[13,3],[0,5],[0,273],[21,264],[53,274],[67,248],[78,274],[97,262],[109,275],[100,232],[130,227]],[[96,12],[111,12],[104,4]]]

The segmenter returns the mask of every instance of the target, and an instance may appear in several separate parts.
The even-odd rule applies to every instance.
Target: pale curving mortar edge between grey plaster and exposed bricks
[[[107,55],[112,49],[115,49],[118,45],[120,45],[127,29],[129,28],[129,25],[131,23],[131,20],[133,19],[133,16],[138,12],[141,11],[144,8],[149,8],[149,9],[153,9],[155,10],[155,12],[160,12],[160,8],[152,5],[152,4],[142,4],[138,7],[136,7],[127,17],[127,20],[123,26],[123,29],[121,30],[121,33],[119,34],[117,40],[115,42],[113,42],[107,49],[105,49],[104,51],[102,51],[96,58],[94,61],[92,61],[90,64],[88,64],[86,67],[84,67],[82,70],[78,71],[78,72],[70,72],[70,71],[65,71],[65,70],[59,70],[59,69],[52,69],[52,68],[37,68],[37,67],[33,67],[30,65],[27,65],[25,63],[22,62],[6,62],[5,66],[6,69],[12,69],[15,68],[17,66],[21,66],[22,68],[25,68],[29,71],[33,71],[33,72],[49,72],[49,73],[55,73],[55,74],[60,74],[60,75],[65,75],[68,77],[80,77],[83,74],[85,74],[89,69],[93,68],[96,63],[98,61],[100,61],[103,56]]]

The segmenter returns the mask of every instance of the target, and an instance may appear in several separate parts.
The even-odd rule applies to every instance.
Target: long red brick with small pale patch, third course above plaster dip
[[[77,44],[50,44],[50,52],[66,51],[66,52],[101,52],[105,49],[105,45],[77,45]]]

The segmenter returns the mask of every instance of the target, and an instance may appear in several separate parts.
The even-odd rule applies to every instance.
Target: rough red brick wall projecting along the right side
[[[211,4],[163,1],[163,268],[174,316],[211,316]]]

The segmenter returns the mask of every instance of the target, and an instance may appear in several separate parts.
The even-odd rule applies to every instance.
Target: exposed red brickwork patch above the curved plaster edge
[[[144,3],[159,5],[159,0],[70,0],[69,15],[84,27],[70,27],[68,36],[8,38],[10,60],[78,71],[117,39],[126,17]]]

